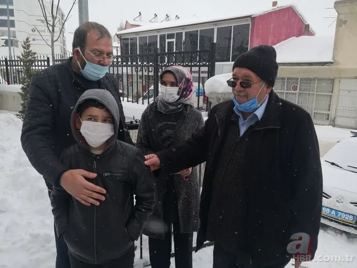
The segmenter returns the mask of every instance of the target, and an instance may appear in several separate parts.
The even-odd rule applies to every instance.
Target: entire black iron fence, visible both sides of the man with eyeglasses
[[[195,51],[158,52],[146,54],[119,55],[114,51],[114,60],[109,72],[117,80],[122,100],[135,103],[150,103],[158,94],[159,73],[166,67],[181,65],[193,76],[194,95],[192,102],[199,110],[210,110],[210,103],[205,95],[204,83],[215,73],[216,44],[210,49]],[[116,53],[115,53],[116,52]],[[65,62],[71,54],[57,54],[52,64]],[[48,56],[39,56],[32,67],[41,70],[51,64]],[[0,83],[21,84],[23,64],[19,59],[0,59]]]

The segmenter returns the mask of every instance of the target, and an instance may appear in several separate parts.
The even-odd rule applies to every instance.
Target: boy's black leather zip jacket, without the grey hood
[[[86,206],[55,187],[51,204],[58,236],[74,257],[86,263],[119,258],[139,238],[154,208],[153,175],[144,156],[134,146],[115,140],[102,155],[75,144],[61,159],[69,169],[98,174],[90,181],[107,193],[99,206]]]

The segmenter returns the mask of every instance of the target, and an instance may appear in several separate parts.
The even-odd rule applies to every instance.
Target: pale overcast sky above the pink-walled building
[[[60,0],[60,6],[67,15],[73,0]],[[112,35],[116,33],[120,22],[133,20],[139,12],[142,20],[149,21],[156,13],[158,21],[168,14],[176,15],[180,20],[192,18],[225,17],[243,15],[268,10],[272,0],[88,0],[89,21],[105,25]],[[334,7],[335,0],[278,0],[278,6],[294,4],[310,23],[316,35],[333,36],[335,34],[335,19],[324,18],[337,16]],[[154,4],[155,3],[155,4]],[[329,25],[334,22],[330,27]],[[72,10],[71,18],[66,24],[67,49],[71,50],[74,30],[78,27],[78,4]]]

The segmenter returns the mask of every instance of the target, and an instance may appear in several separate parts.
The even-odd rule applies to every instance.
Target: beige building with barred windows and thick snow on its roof
[[[357,0],[335,1],[334,7],[335,36],[292,37],[274,45],[279,64],[274,91],[304,108],[316,124],[357,129]],[[231,65],[216,64],[224,79],[231,71]],[[222,90],[224,79],[208,96],[215,103],[232,97],[231,89]]]

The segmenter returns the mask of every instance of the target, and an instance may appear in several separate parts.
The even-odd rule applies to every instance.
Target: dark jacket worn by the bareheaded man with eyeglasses
[[[72,57],[65,63],[53,65],[33,76],[23,119],[21,143],[31,165],[46,181],[48,189],[58,185],[68,168],[61,163],[62,151],[76,143],[69,119],[79,96],[87,90],[74,75]],[[84,79],[84,78],[83,78]],[[117,101],[120,124],[117,139],[133,144],[120,100],[118,83],[107,73],[100,81]]]

